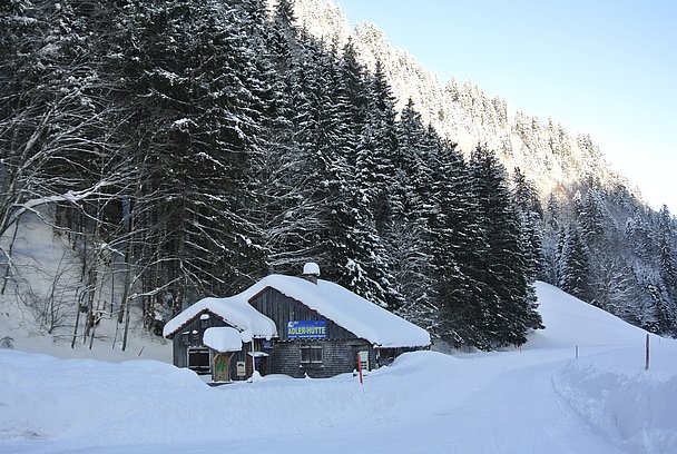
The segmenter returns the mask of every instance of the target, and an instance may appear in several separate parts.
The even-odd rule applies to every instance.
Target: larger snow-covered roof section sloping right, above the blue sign
[[[271,275],[249,287],[244,295],[251,299],[267,287],[305,304],[375,346],[396,348],[430,345],[430,334],[425,329],[337,284],[323,279],[313,284],[300,277]]]

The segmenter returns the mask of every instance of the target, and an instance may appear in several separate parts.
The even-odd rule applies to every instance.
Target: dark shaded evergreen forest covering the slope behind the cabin
[[[313,260],[459,346],[522,344],[540,326],[539,275],[677,333],[667,209],[593,179],[542,207],[492,147],[464,156],[412,101],[396,109],[384,67],[312,38],[287,0],[271,13],[264,0],[17,0],[0,4],[0,304],[27,278],[23,215],[80,264],[51,293],[72,295],[70,312],[46,330],[140,308],[159,333],[200,297]],[[110,274],[119,292],[101,300]]]

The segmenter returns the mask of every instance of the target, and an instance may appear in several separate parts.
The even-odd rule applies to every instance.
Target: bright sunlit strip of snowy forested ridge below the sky
[[[590,136],[569,131],[557,119],[541,119],[520,111],[519,106],[508,106],[470,80],[452,78],[442,83],[406,50],[394,48],[377,24],[359,23],[350,30],[336,3],[340,1],[297,0],[298,26],[325,42],[337,39],[342,45],[350,37],[366,68],[373,71],[376,60],[383,63],[399,110],[411,98],[423,120],[464,152],[478,142],[487,144],[508,169],[519,167],[533,179],[543,197],[588,177],[607,187],[620,184],[629,188]]]

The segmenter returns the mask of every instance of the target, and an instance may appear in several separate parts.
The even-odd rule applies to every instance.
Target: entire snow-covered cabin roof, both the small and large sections
[[[254,337],[277,335],[275,324],[258,313],[248,302],[266,288],[298,300],[355,336],[381,348],[424,347],[430,334],[416,325],[376,306],[349,289],[327,280],[313,284],[294,276],[271,275],[243,293],[229,298],[205,298],[174,317],[165,325],[165,337],[178,332],[200,312],[208,309],[228,324],[249,329]]]

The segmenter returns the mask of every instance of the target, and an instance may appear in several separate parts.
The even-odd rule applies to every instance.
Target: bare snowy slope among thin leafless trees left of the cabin
[[[84,300],[79,293],[81,255],[73,251],[65,235],[55,234],[51,225],[36,214],[24,215],[17,226],[14,275],[0,295],[0,346],[49,352],[60,358],[171,361],[171,346],[143,328],[138,305],[131,308],[128,342],[121,349],[124,324],[117,323],[119,306],[106,303],[119,298],[121,278],[116,273],[99,273],[92,297],[95,326],[87,333],[86,314],[81,313],[73,329],[78,317],[76,302],[82,307]],[[0,246],[6,250],[11,235],[0,237]]]

